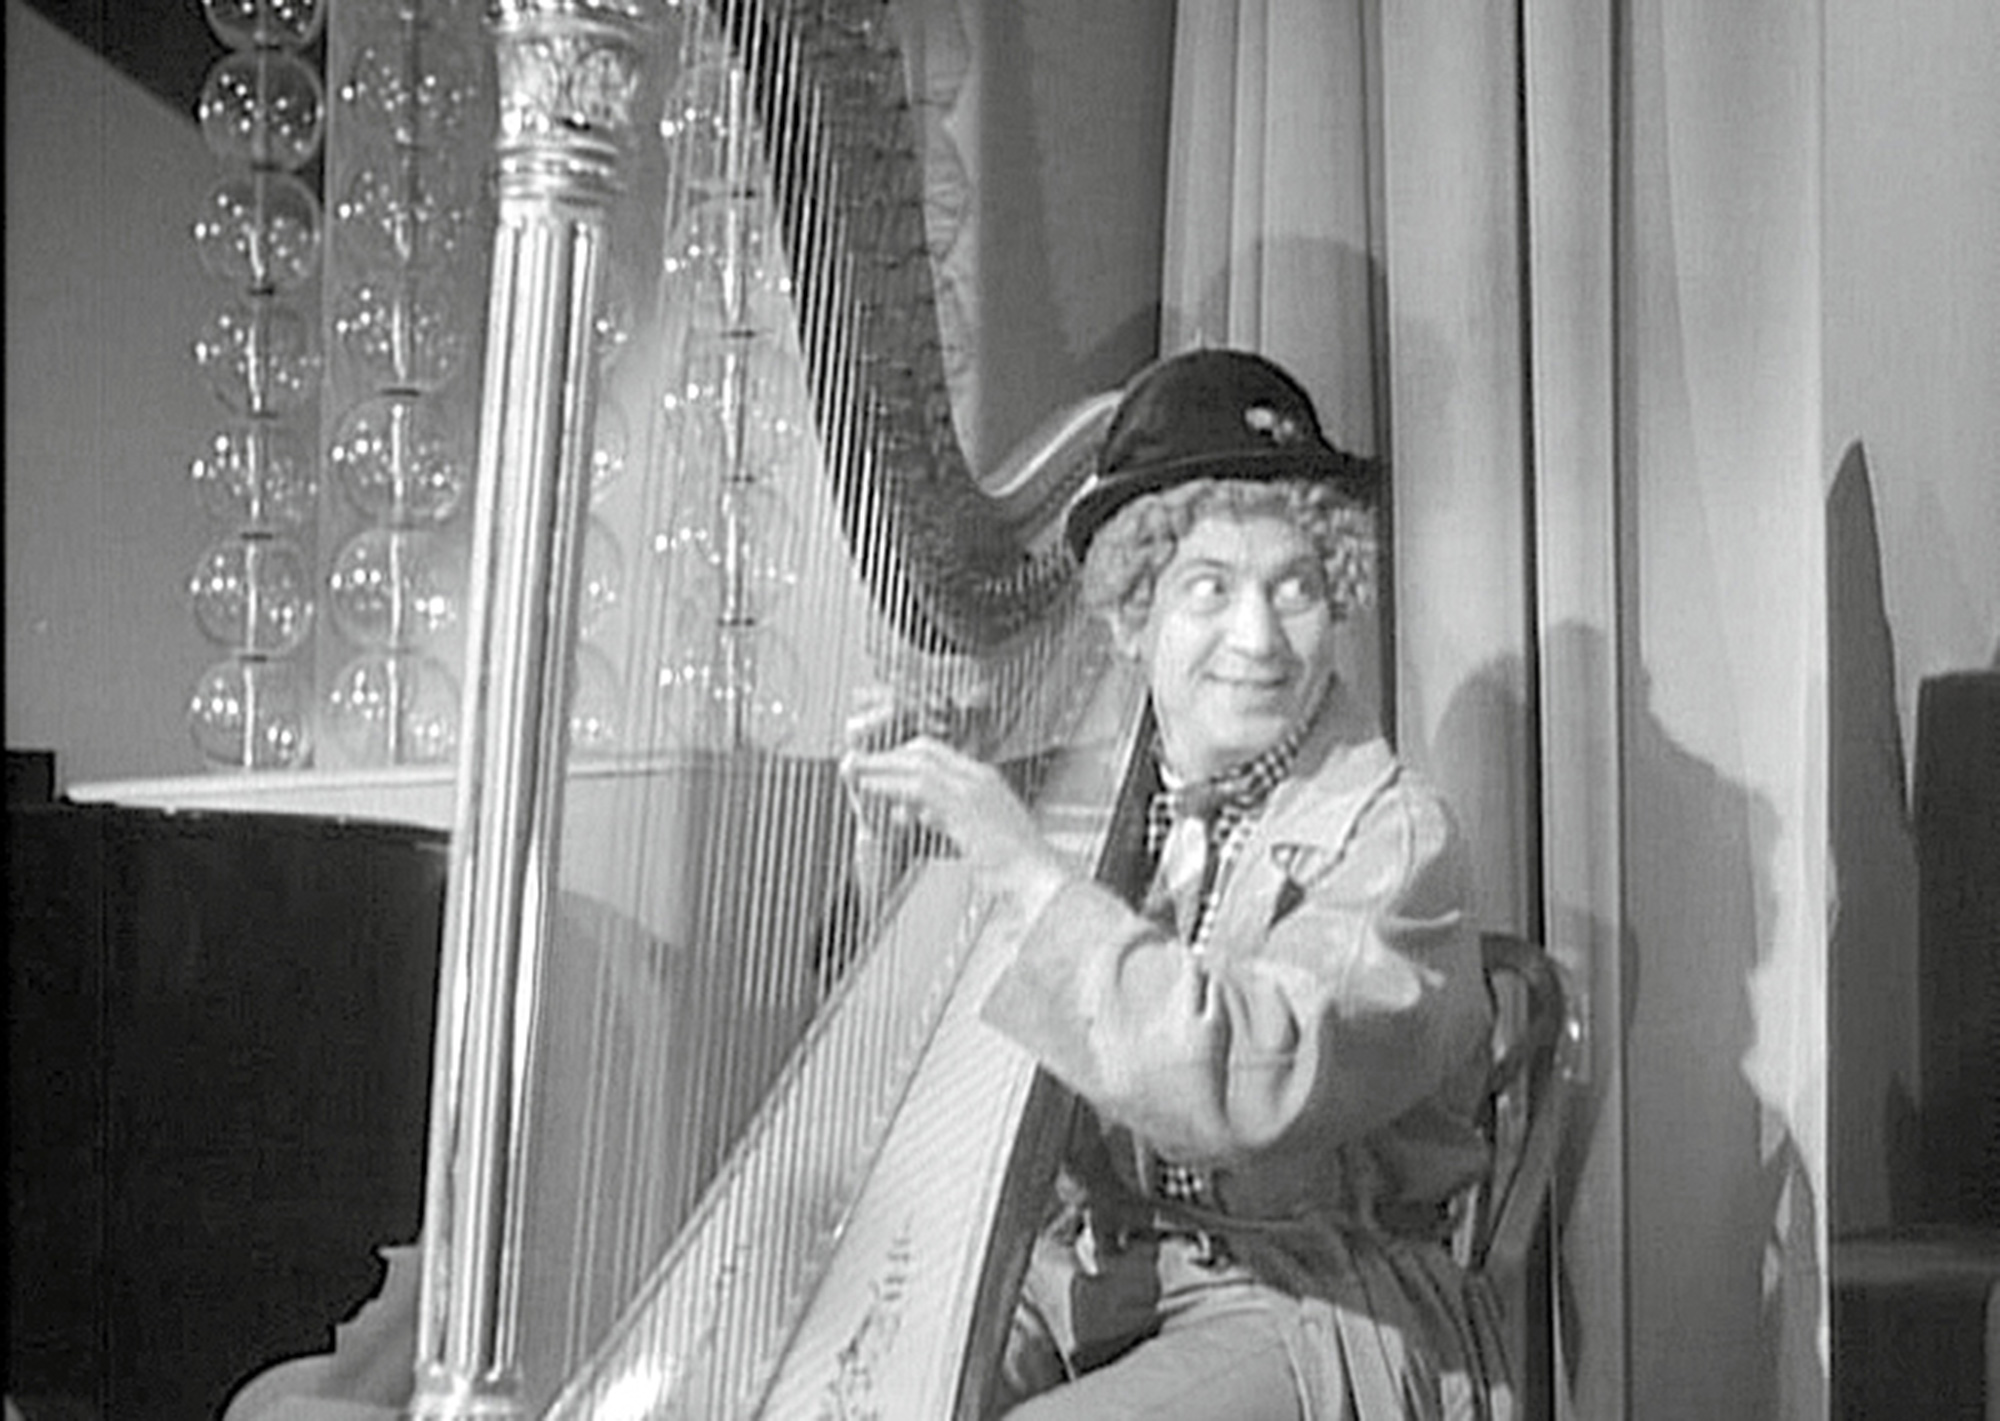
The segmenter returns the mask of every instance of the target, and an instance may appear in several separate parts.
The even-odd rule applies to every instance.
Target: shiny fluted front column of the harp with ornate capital
[[[522,1141],[556,887],[596,308],[658,0],[494,0],[498,232],[412,1415],[526,1415]]]

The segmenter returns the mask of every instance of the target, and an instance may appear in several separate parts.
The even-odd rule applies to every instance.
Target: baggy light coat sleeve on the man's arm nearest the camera
[[[1484,1041],[1458,833],[1402,781],[1344,847],[1296,855],[1290,873],[1276,921],[1202,953],[1074,881],[1028,929],[986,1021],[1184,1163],[1362,1139]]]

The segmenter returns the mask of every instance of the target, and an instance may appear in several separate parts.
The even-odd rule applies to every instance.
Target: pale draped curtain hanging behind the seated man
[[[1178,8],[1162,346],[1388,460],[1400,747],[1586,1001],[1568,1415],[1826,1407],[1814,14]]]

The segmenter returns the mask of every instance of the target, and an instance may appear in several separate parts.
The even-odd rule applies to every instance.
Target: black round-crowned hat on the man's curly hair
[[[1128,502],[1194,478],[1326,480],[1372,502],[1374,464],[1328,444],[1298,380],[1264,356],[1168,356],[1132,376],[1112,412],[1098,476],[1064,528],[1076,558]]]

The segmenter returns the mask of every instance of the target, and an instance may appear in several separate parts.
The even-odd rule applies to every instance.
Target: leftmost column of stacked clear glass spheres
[[[322,4],[202,0],[202,10],[228,46],[196,108],[224,174],[194,242],[234,290],[194,340],[228,418],[190,476],[226,532],[188,592],[202,634],[226,654],[196,682],[188,729],[216,769],[290,769],[312,755],[320,202],[300,172],[326,116],[306,58]]]

